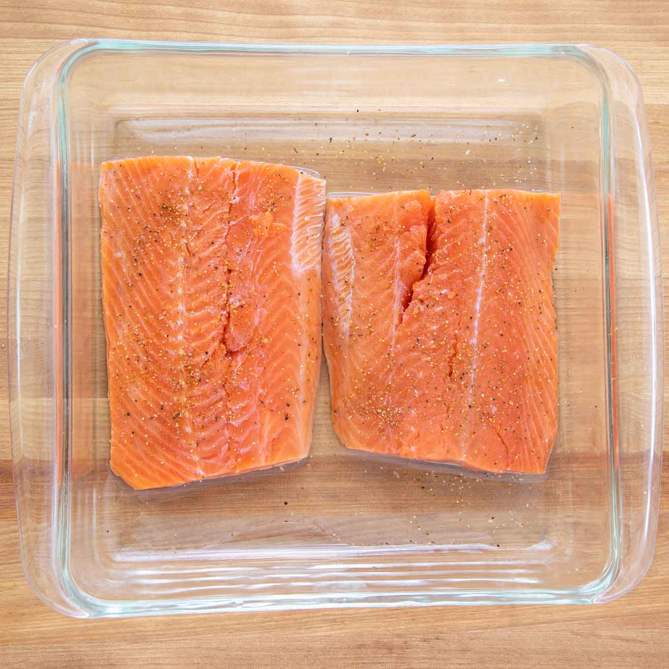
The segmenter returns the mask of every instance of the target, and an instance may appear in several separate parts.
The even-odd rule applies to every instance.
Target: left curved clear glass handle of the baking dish
[[[67,437],[59,90],[66,66],[91,41],[77,39],[42,56],[25,78],[9,243],[9,419],[19,542],[25,575],[39,597],[84,616],[68,596],[63,466]]]

